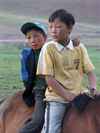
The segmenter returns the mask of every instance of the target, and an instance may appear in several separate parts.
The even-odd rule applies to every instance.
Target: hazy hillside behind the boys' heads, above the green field
[[[0,0],[0,40],[25,40],[20,27],[27,21],[43,23],[50,38],[48,17],[60,8],[75,17],[72,37],[100,43],[100,0]]]

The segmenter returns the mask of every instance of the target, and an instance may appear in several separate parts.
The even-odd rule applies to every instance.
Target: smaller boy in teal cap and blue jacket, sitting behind
[[[21,57],[21,75],[25,86],[23,100],[28,107],[35,103],[35,109],[19,133],[38,133],[44,123],[45,103],[43,99],[47,84],[45,78],[36,75],[36,69],[39,53],[47,40],[47,34],[40,23],[25,23],[21,31],[25,34],[30,47],[29,50],[22,51]]]

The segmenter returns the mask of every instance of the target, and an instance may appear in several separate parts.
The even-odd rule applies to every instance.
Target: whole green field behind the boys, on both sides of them
[[[24,89],[20,72],[22,50],[18,44],[16,47],[14,46],[0,46],[0,100],[18,90]],[[88,49],[88,54],[96,68],[94,73],[97,77],[97,89],[100,90],[100,50]],[[86,88],[88,80],[86,75],[84,77],[83,87]]]

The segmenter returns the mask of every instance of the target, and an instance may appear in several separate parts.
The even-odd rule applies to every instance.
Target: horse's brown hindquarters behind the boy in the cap
[[[0,104],[0,133],[18,133],[26,119],[33,114],[22,99],[23,90],[9,96]]]

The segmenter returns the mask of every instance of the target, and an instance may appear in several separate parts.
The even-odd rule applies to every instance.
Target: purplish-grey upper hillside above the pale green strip
[[[0,11],[33,17],[46,17],[64,8],[77,22],[100,24],[100,0],[0,0]]]

